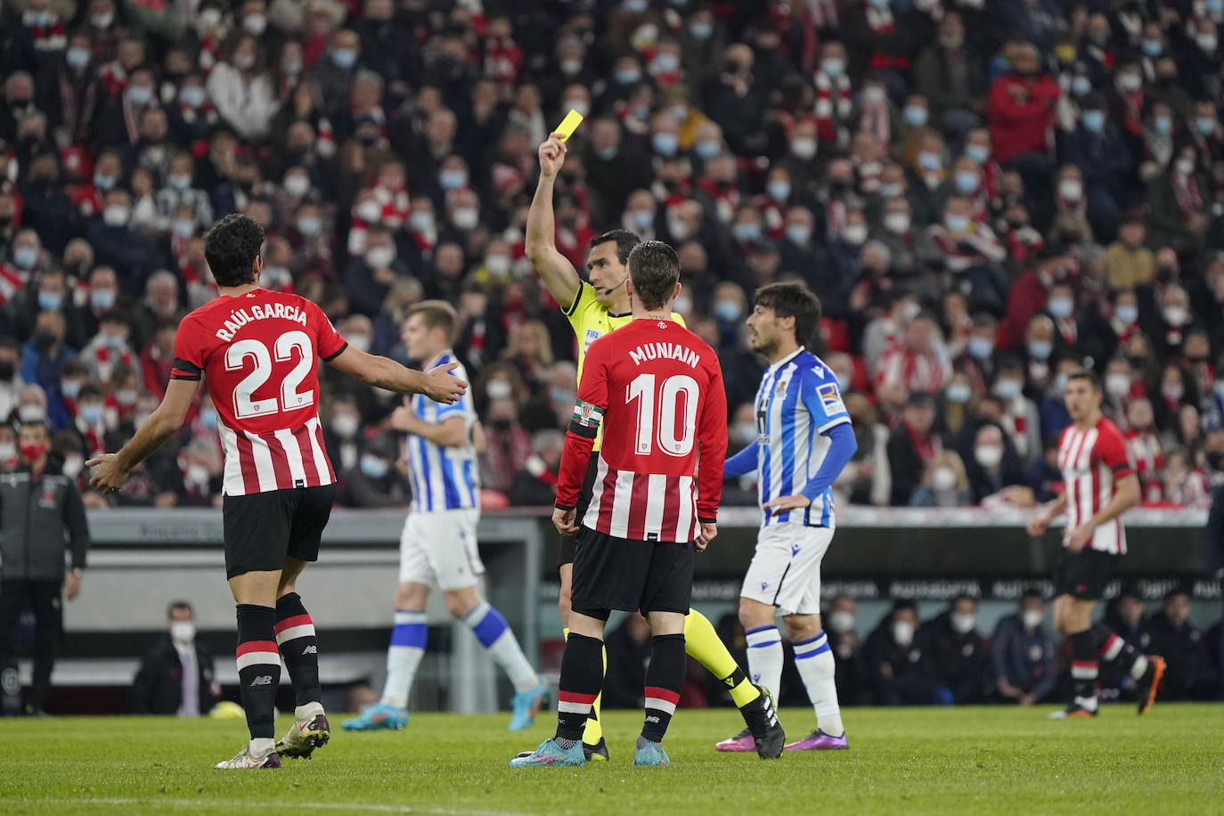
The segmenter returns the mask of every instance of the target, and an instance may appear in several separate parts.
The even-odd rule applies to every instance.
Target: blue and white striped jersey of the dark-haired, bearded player
[[[848,423],[837,377],[819,357],[800,347],[765,372],[756,390],[756,475],[760,503],[797,495],[816,475],[832,442],[824,436]],[[834,492],[825,488],[804,510],[763,511],[761,526],[802,524],[834,526]]]

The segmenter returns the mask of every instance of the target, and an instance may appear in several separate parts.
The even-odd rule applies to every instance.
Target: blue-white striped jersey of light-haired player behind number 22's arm
[[[448,349],[424,366],[422,371],[449,362],[459,362],[459,360]],[[461,365],[450,373],[468,380],[468,372]],[[479,508],[480,467],[476,464],[476,449],[471,443],[471,428],[476,425],[476,409],[471,402],[471,390],[459,398],[454,405],[435,402],[424,394],[412,395],[409,405],[412,414],[425,422],[437,425],[453,416],[461,416],[468,428],[468,440],[459,448],[446,448],[424,437],[408,436],[404,444],[409,461],[409,477],[412,482],[412,511],[435,513]]]

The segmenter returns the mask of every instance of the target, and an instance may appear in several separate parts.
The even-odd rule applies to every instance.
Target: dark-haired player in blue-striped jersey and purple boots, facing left
[[[834,685],[834,653],[820,624],[820,560],[834,537],[832,483],[857,444],[837,378],[802,344],[815,338],[820,301],[802,284],[756,290],[749,343],[769,369],[756,391],[756,442],[731,456],[727,478],[758,472],[761,529],[739,591],[748,670],[775,695],[782,677],[778,612],[796,668],[816,712],[816,729],[788,751],[848,747]],[[754,750],[743,732],[717,745]]]

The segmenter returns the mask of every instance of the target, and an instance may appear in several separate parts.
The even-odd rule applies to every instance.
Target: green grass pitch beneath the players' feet
[[[552,733],[541,716],[414,714],[403,732],[340,730],[280,771],[214,771],[241,721],[0,719],[5,814],[891,814],[1224,812],[1224,705],[1109,706],[1093,721],[1053,708],[847,710],[851,750],[774,762],[717,754],[736,712],[682,710],[670,768],[633,767],[635,712],[608,712],[611,763],[509,768]],[[789,738],[812,711],[783,712]],[[278,736],[288,727],[280,717]]]

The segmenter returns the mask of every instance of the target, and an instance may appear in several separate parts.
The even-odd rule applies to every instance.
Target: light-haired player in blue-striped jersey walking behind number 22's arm
[[[459,317],[449,303],[416,303],[404,324],[409,356],[458,362],[450,350],[458,328]],[[452,373],[466,377],[463,366]],[[480,521],[476,453],[483,444],[483,433],[471,395],[464,395],[454,405],[412,399],[392,415],[392,427],[408,433],[412,505],[399,542],[399,588],[387,650],[387,684],[382,700],[344,727],[398,729],[408,722],[409,689],[425,653],[425,602],[436,586],[442,590],[450,614],[471,629],[509,677],[514,685],[510,730],[523,730],[534,722],[548,686],[523,655],[506,618],[480,596],[476,586],[485,573],[476,547]]]

